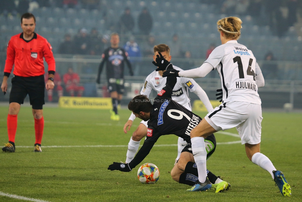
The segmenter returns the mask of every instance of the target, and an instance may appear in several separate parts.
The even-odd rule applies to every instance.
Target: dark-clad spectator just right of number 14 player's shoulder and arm
[[[278,67],[277,64],[273,62],[275,60],[273,53],[266,53],[264,60],[265,62],[261,67],[263,77],[265,79],[277,79]]]

